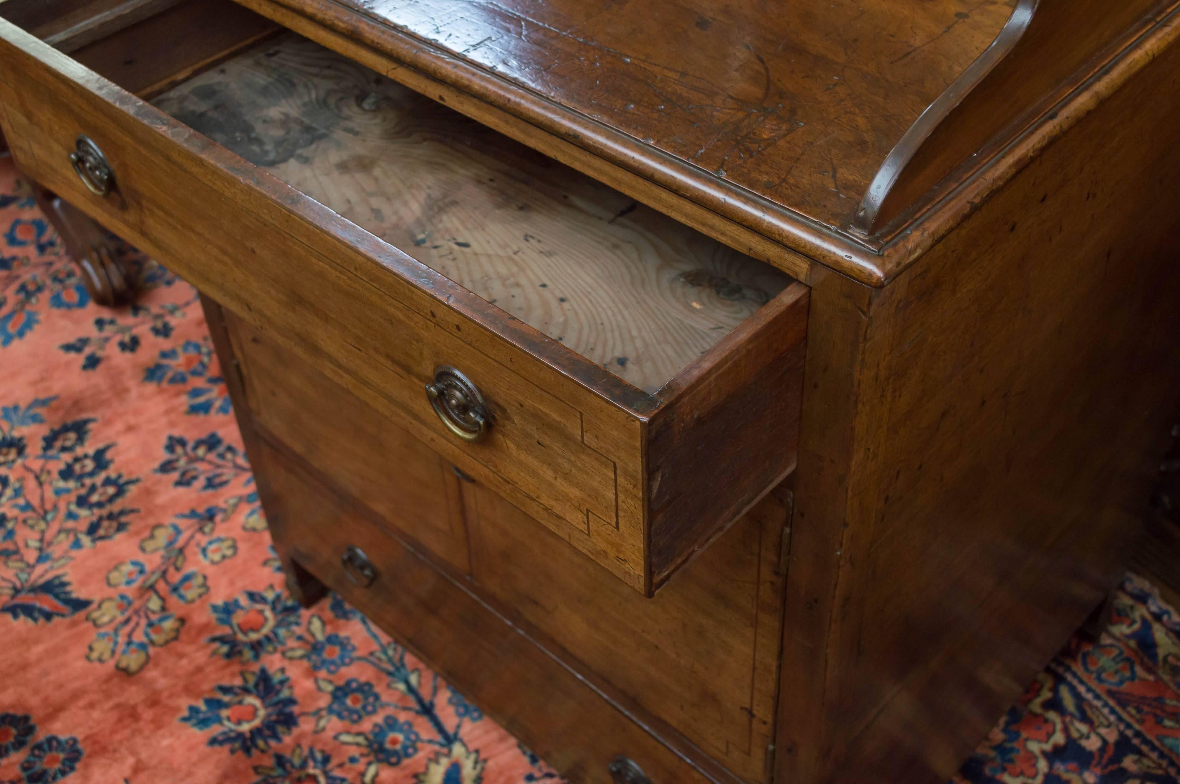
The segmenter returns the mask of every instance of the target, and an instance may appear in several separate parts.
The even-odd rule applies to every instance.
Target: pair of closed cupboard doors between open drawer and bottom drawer
[[[218,314],[244,381],[240,416],[253,433],[316,466],[427,558],[470,574],[472,591],[542,633],[563,660],[599,673],[736,775],[763,775],[774,743],[788,494],[755,506],[644,599],[236,316]],[[330,419],[307,415],[327,409]],[[297,542],[280,548],[304,546]],[[531,726],[525,742],[542,729]]]

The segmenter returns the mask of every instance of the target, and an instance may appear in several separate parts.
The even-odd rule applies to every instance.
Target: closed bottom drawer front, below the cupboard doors
[[[734,780],[704,776],[282,454],[262,443],[251,459],[271,532],[283,540],[284,552],[293,552],[300,566],[393,633],[571,780],[610,784],[607,765],[618,756],[632,758],[653,782]],[[345,565],[350,548],[363,553],[368,575],[356,567],[355,555]],[[490,672],[496,677],[486,677]]]

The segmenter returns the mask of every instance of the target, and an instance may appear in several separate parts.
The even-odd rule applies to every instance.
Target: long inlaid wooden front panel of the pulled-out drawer
[[[644,589],[644,420],[617,401],[645,395],[4,21],[0,111],[30,176]],[[105,198],[72,170],[80,133],[114,172]],[[487,400],[485,441],[434,414],[440,364]]]

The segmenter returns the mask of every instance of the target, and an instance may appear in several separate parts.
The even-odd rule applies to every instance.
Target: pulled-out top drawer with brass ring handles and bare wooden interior
[[[113,5],[0,5],[31,177],[649,595],[793,469],[806,286],[238,6]]]

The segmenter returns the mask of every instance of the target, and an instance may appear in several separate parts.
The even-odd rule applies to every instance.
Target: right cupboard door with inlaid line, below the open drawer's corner
[[[527,622],[747,780],[774,744],[787,506],[768,496],[644,600],[493,493],[464,487],[472,577]],[[717,645],[723,640],[723,645]]]

